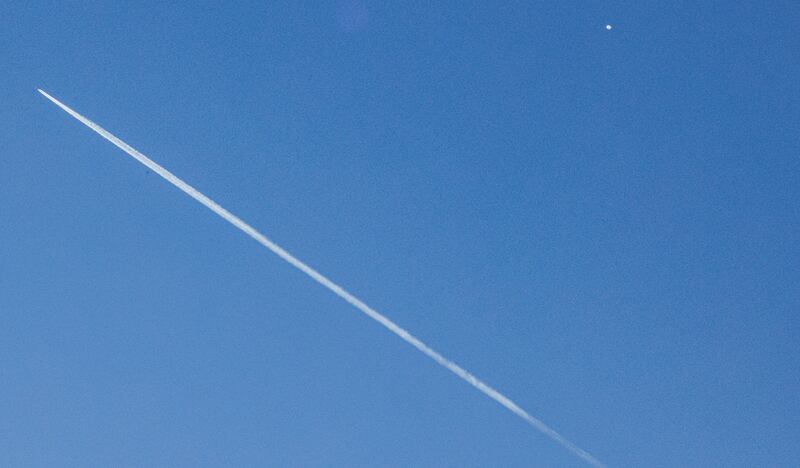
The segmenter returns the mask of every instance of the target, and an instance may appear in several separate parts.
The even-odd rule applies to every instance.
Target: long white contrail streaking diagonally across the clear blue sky
[[[333,281],[329,280],[327,277],[323,276],[321,273],[317,272],[317,270],[311,268],[310,266],[306,265],[299,259],[297,259],[294,255],[290,254],[286,250],[284,250],[278,244],[269,240],[266,236],[261,234],[260,232],[256,231],[255,228],[250,226],[249,224],[245,223],[241,219],[239,219],[236,215],[231,213],[230,211],[226,210],[225,208],[219,206],[214,200],[208,198],[207,196],[203,195],[197,189],[192,187],[191,185],[187,184],[186,182],[182,181],[174,174],[169,172],[168,170],[164,169],[156,162],[148,158],[147,156],[143,155],[142,153],[138,152],[136,149],[125,143],[124,141],[120,140],[119,138],[115,137],[108,131],[106,131],[103,127],[97,125],[96,123],[92,122],[91,120],[87,119],[86,117],[82,116],[81,114],[72,110],[66,104],[63,104],[58,99],[54,98],[53,96],[47,94],[46,92],[42,91],[41,89],[37,88],[44,97],[52,101],[55,105],[62,108],[66,113],[75,117],[81,123],[89,127],[90,129],[94,130],[100,136],[105,138],[106,140],[110,141],[114,145],[116,145],[122,151],[125,151],[134,159],[139,161],[140,163],[144,164],[145,166],[149,167],[153,170],[156,174],[160,175],[167,182],[171,183],[172,185],[178,187],[179,189],[183,190],[187,195],[194,198],[195,200],[199,201],[206,208],[213,211],[214,213],[218,214],[222,219],[225,221],[233,224],[235,227],[239,228],[248,236],[252,237],[256,242],[263,245],[264,247],[271,250],[275,255],[279,256],[280,258],[284,259],[287,263],[292,265],[293,267],[297,268],[298,270],[302,271],[306,275],[310,276],[311,279],[316,281],[317,283],[325,286],[331,292],[336,294],[337,296],[341,297],[345,301],[352,304],[356,309],[360,310],[364,314],[366,314],[372,320],[380,323],[384,327],[388,328],[389,331],[394,333],[395,335],[402,338],[405,342],[410,344],[411,346],[417,348],[418,350],[422,351],[426,356],[433,359],[437,363],[439,363],[442,367],[446,368],[450,372],[456,374],[461,379],[465,380],[467,383],[472,385],[473,387],[477,388],[481,392],[483,392],[486,396],[493,399],[494,401],[500,403],[501,405],[505,406],[509,411],[516,414],[520,418],[524,419],[528,424],[533,426],[534,428],[538,429],[544,435],[550,437],[554,441],[558,442],[562,446],[564,446],[567,450],[572,452],[573,454],[577,455],[578,457],[582,458],[589,464],[597,467],[603,467],[603,463],[600,460],[596,459],[592,456],[589,452],[583,450],[582,448],[578,447],[574,443],[567,440],[564,436],[556,432],[555,430],[551,429],[550,426],[545,424],[544,422],[540,421],[539,419],[531,416],[528,414],[527,411],[520,408],[516,403],[508,399],[505,395],[498,392],[494,388],[490,387],[489,385],[483,383],[480,379],[475,377],[474,375],[467,372],[458,364],[454,363],[453,361],[447,359],[446,357],[442,356],[441,354],[434,351],[430,346],[426,345],[416,337],[414,337],[411,333],[407,332],[405,329],[397,325],[396,323],[392,322],[388,318],[386,318],[383,314],[378,312],[377,310],[373,309],[372,307],[368,306],[361,299],[355,297],[354,295],[347,292],[344,288],[339,286],[338,284],[334,283]]]

